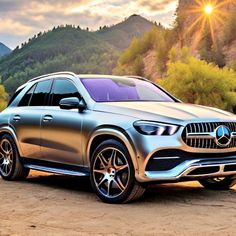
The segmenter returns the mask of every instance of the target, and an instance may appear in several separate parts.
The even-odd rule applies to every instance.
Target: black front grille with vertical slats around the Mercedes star
[[[188,124],[182,133],[182,139],[190,147],[193,148],[208,148],[208,149],[222,149],[218,146],[213,137],[209,138],[209,133],[214,133],[218,126],[224,125],[230,129],[233,133],[236,132],[236,122],[204,122],[204,123],[190,123]],[[188,134],[196,134],[196,136],[187,138]],[[197,134],[201,134],[198,135]],[[205,135],[205,137],[204,137]],[[235,148],[236,147],[236,136],[234,136],[227,147],[224,148]]]

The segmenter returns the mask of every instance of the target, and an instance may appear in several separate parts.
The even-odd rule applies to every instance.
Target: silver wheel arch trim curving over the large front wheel
[[[135,173],[137,174],[139,172],[139,166],[138,166],[138,161],[137,161],[137,153],[131,143],[131,140],[128,139],[128,137],[121,131],[116,130],[116,129],[111,129],[111,128],[102,128],[99,130],[96,130],[90,137],[88,145],[87,145],[87,152],[86,152],[86,161],[87,163],[90,163],[90,148],[91,148],[91,144],[93,142],[93,140],[100,135],[111,135],[111,136],[115,136],[116,138],[120,139],[126,146],[126,148],[128,149],[128,152],[131,156],[133,165],[134,165],[134,169],[135,169]],[[136,175],[135,174],[135,175]]]

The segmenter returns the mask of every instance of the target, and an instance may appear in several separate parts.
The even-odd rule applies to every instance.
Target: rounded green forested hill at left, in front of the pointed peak
[[[0,60],[2,82],[9,93],[28,79],[55,71],[108,73],[118,50],[96,35],[71,26],[39,34]]]

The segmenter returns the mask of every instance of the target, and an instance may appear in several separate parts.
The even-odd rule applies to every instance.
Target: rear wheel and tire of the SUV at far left
[[[23,180],[29,174],[20,162],[19,152],[12,137],[5,134],[0,139],[0,175],[4,180]]]

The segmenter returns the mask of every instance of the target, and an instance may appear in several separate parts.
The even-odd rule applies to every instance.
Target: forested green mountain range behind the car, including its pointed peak
[[[110,74],[118,56],[133,37],[148,31],[153,23],[133,15],[98,31],[72,25],[39,33],[0,59],[0,76],[8,93],[28,79],[55,71]]]

